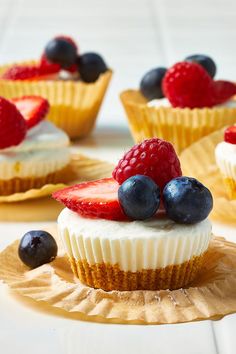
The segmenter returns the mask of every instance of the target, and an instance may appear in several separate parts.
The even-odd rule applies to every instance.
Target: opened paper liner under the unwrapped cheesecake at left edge
[[[68,184],[111,176],[114,166],[108,162],[73,154],[65,179]],[[0,196],[0,221],[56,220],[63,206],[51,198],[65,184],[48,184],[24,193]]]

